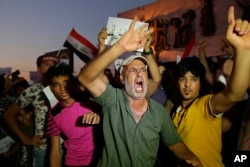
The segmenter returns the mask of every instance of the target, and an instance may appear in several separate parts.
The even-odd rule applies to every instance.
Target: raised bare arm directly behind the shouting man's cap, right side
[[[149,81],[148,81],[148,95],[149,96],[155,93],[155,91],[157,90],[158,86],[161,83],[161,78],[162,78],[160,71],[159,71],[159,67],[155,60],[155,56],[153,55],[153,52],[150,48],[152,39],[153,39],[152,35],[149,35],[147,38],[147,42],[144,46],[144,52],[151,53],[151,54],[146,55],[146,58],[148,59],[148,63],[149,63],[149,72],[151,74],[151,77],[149,78]]]

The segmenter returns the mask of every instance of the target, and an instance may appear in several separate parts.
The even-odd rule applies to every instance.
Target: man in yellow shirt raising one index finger
[[[203,166],[223,167],[221,158],[222,113],[241,101],[250,79],[250,24],[235,20],[234,8],[228,11],[226,39],[235,48],[235,62],[226,88],[202,96],[205,68],[196,57],[177,64],[174,76],[180,92],[180,105],[173,122],[186,146]]]

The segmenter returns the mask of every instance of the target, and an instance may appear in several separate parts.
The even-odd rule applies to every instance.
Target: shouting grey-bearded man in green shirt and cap
[[[160,138],[179,158],[200,166],[181,141],[164,107],[146,95],[149,62],[145,57],[134,55],[123,61],[123,89],[113,88],[99,77],[119,56],[144,47],[153,29],[143,31],[146,25],[134,29],[135,23],[136,20],[116,44],[92,59],[78,76],[82,86],[103,107],[104,150],[98,166],[152,167]],[[149,54],[152,52],[145,50],[145,55]]]

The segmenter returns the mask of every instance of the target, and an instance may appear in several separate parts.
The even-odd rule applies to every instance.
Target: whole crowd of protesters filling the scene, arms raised
[[[109,48],[103,28],[98,55],[77,76],[51,55],[37,58],[38,83],[0,75],[1,167],[223,167],[250,151],[250,24],[229,7],[218,46],[227,56],[208,58],[201,39],[198,55],[162,63],[154,29],[135,22]]]

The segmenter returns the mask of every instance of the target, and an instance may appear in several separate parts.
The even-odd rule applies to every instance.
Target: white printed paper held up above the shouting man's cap
[[[128,31],[131,22],[132,22],[131,19],[109,17],[108,23],[107,23],[108,37],[105,40],[105,44],[106,45],[115,44],[124,35],[124,33]],[[144,24],[147,24],[147,27],[145,28],[145,30],[147,30],[148,23],[144,23],[140,21],[136,22],[134,28],[136,29]],[[142,52],[143,48],[140,48],[137,51]]]

